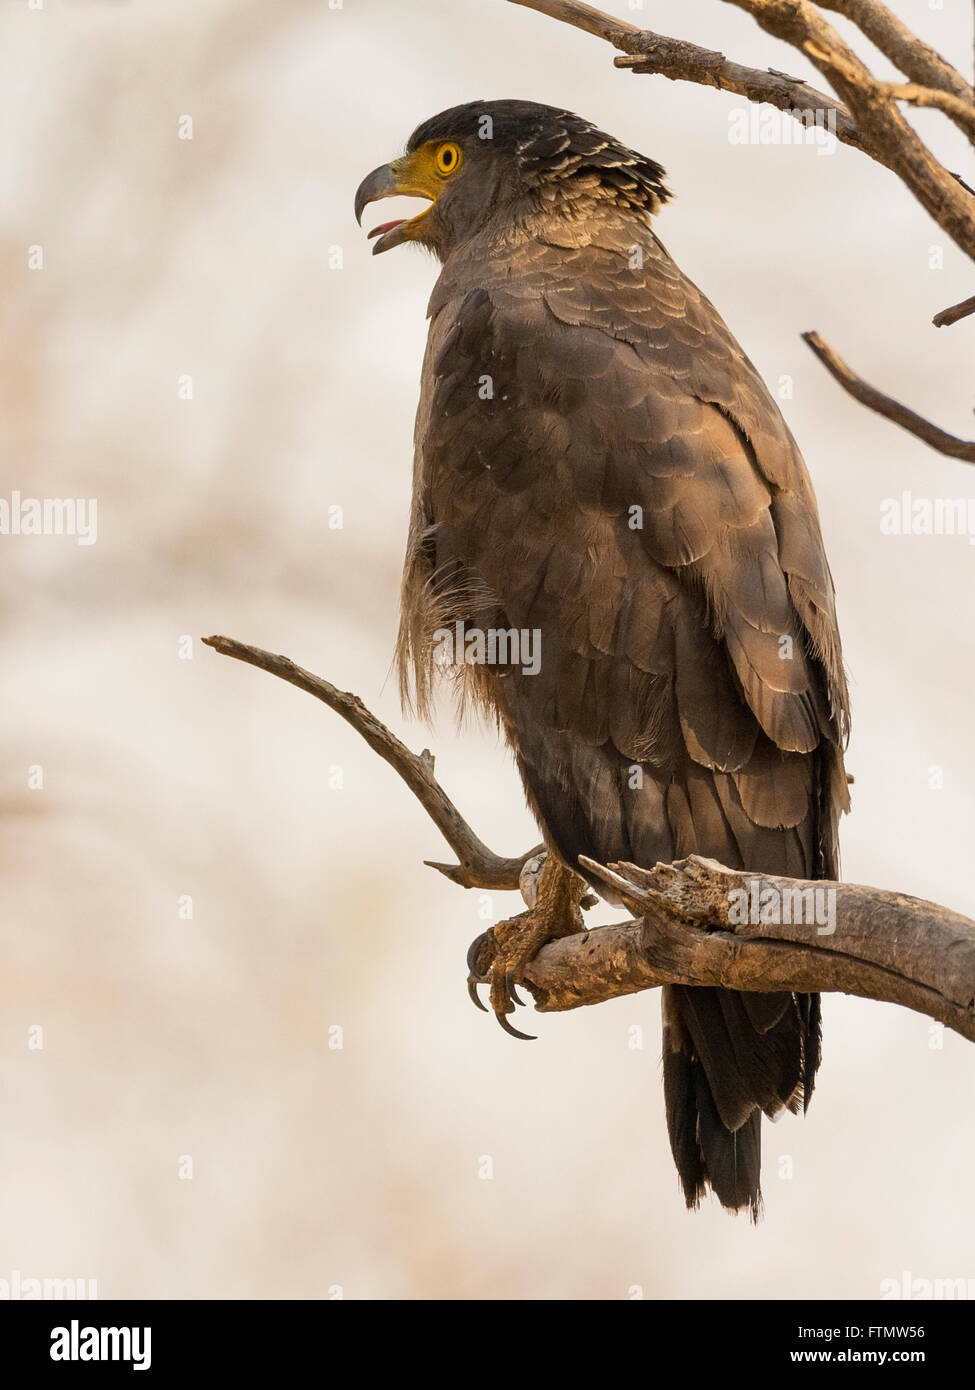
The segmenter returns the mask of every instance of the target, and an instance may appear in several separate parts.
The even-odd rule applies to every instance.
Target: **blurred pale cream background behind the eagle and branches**
[[[804,71],[715,0],[606,6]],[[894,8],[967,67],[969,6]],[[793,381],[855,702],[846,876],[975,913],[975,552],[879,530],[883,498],[967,496],[975,475],[850,402],[798,339],[819,329],[971,434],[975,321],[929,324],[971,293],[960,253],[855,152],[730,145],[737,99],[618,72],[502,0],[7,0],[0,93],[0,495],[99,502],[93,546],[0,538],[0,1277],[825,1298],[975,1276],[967,1042],[828,998],[811,1113],[765,1129],[764,1223],[690,1215],[658,999],[503,1037],[463,958],[516,897],[424,869],[437,831],[324,708],[199,642],[179,656],[213,631],[288,652],[430,744],[495,849],[535,841],[494,735],[446,712],[410,727],[387,678],[435,270],[373,260],[352,195],[446,106],[565,104],[666,167],[663,240],[773,389]],[[915,120],[971,178],[953,128]]]

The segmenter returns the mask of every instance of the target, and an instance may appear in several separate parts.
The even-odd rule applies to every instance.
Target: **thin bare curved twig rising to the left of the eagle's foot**
[[[522,866],[545,847],[535,845],[516,859],[502,859],[488,849],[434,777],[431,753],[426,749],[420,755],[412,753],[385,724],[366,709],[357,695],[337,689],[320,676],[313,676],[310,671],[302,670],[300,666],[295,666],[287,656],[275,656],[259,646],[248,646],[246,642],[236,642],[232,637],[204,637],[203,642],[220,652],[221,656],[234,656],[238,662],[246,662],[261,671],[270,671],[271,676],[307,691],[309,695],[314,695],[323,705],[341,714],[357,734],[362,734],[373,752],[399,773],[459,859],[456,865],[426,860],[431,869],[438,869],[462,888],[519,887]]]

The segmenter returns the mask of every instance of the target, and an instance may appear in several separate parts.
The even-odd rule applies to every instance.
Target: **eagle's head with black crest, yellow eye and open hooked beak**
[[[419,242],[445,260],[469,238],[540,220],[648,221],[669,193],[654,160],[572,111],[537,101],[470,101],[417,126],[402,158],[363,179],[356,221],[380,197],[427,197],[417,217],[384,222],[373,254]]]

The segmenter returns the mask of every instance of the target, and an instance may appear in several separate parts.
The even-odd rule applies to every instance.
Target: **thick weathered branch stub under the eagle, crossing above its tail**
[[[860,884],[741,873],[697,856],[651,870],[584,863],[640,920],[544,947],[524,972],[541,1012],[661,984],[839,991],[904,1005],[975,1041],[975,922],[947,908]],[[833,933],[809,924],[807,912],[801,923],[762,922],[757,912],[732,922],[736,898],[794,909],[796,895],[816,892],[835,895]]]

